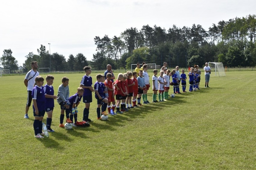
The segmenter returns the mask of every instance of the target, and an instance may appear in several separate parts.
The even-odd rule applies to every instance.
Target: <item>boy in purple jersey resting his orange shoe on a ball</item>
[[[103,78],[103,75],[101,74],[97,74],[96,75],[96,79],[97,81],[94,84],[94,90],[95,90],[95,98],[97,99],[97,119],[101,119],[101,114],[102,115],[108,115],[108,113],[106,113],[106,109],[107,109],[107,104],[108,104],[108,99],[105,97],[105,92],[108,91],[104,91],[105,89],[105,84],[103,85],[101,82],[105,80],[105,78]],[[102,113],[100,114],[100,107],[102,110]]]

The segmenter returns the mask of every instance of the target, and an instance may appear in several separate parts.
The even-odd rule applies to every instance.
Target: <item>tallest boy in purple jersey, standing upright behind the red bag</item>
[[[90,103],[93,101],[92,98],[92,92],[94,92],[94,89],[92,87],[93,85],[93,79],[91,76],[89,76],[92,72],[91,67],[85,66],[84,67],[85,75],[81,80],[80,87],[84,89],[83,94],[83,102],[85,103],[84,107],[84,114],[83,114],[83,122],[93,122],[91,119],[89,119],[89,108]]]

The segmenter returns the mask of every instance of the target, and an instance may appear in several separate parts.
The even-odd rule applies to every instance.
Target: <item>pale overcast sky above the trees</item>
[[[256,14],[255,6],[254,0],[5,0],[0,1],[0,57],[11,49],[20,66],[42,44],[66,59],[83,53],[91,60],[95,36],[118,37],[143,25],[167,31],[200,24],[208,31],[213,23]]]

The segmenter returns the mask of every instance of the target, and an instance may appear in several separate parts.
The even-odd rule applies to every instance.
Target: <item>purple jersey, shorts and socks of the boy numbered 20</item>
[[[44,95],[54,95],[54,89],[52,85],[44,85]],[[45,111],[46,112],[50,112],[53,110],[54,108],[54,99],[53,98],[45,98]],[[46,127],[48,130],[52,130],[51,129],[51,122],[52,122],[52,118],[46,118]]]

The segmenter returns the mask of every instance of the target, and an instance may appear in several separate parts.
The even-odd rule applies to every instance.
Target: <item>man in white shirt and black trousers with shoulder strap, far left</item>
[[[28,98],[27,98],[27,104],[26,104],[26,111],[25,111],[25,119],[29,119],[28,116],[28,111],[29,111],[29,107],[31,105],[31,101],[32,101],[32,90],[35,84],[35,78],[36,76],[39,76],[39,72],[37,71],[38,69],[38,64],[36,61],[33,61],[31,63],[31,70],[26,74],[26,77],[24,79],[24,84],[27,87],[27,91],[28,91]]]

